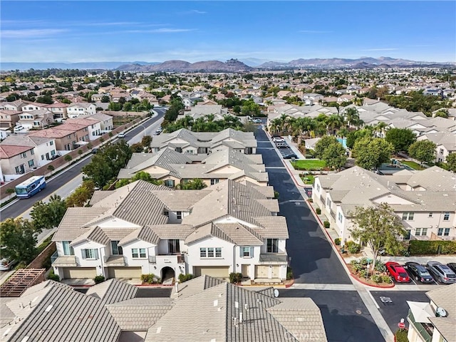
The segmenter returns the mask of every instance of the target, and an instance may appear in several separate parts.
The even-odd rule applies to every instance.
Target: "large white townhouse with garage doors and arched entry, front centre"
[[[286,279],[285,217],[271,187],[232,180],[203,190],[172,190],[139,180],[96,191],[91,207],[68,208],[53,241],[64,279],[180,274],[246,281]],[[211,209],[208,209],[211,208]]]

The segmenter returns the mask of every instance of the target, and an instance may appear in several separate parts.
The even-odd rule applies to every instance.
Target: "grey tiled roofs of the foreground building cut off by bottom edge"
[[[277,298],[210,276],[145,298],[138,287],[110,279],[86,294],[56,281],[1,298],[0,341],[318,341],[326,332],[310,298]]]

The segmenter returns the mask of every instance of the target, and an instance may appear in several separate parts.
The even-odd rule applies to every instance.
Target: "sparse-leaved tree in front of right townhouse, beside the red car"
[[[368,244],[373,252],[374,261],[382,249],[389,254],[400,251],[402,244],[398,237],[405,236],[406,231],[388,204],[381,203],[378,207],[356,207],[353,216],[354,228],[351,229],[351,236]],[[371,265],[372,269],[374,265],[375,262]]]

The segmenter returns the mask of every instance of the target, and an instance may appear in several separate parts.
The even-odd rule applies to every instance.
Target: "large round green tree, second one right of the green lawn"
[[[383,162],[388,162],[393,150],[393,145],[382,138],[366,137],[356,140],[353,157],[356,158],[356,165],[373,170]]]

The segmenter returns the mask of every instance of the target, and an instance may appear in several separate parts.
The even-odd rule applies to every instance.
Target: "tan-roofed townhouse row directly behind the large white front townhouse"
[[[210,155],[190,155],[166,147],[155,153],[133,153],[118,179],[129,179],[138,172],[147,172],[168,187],[184,185],[199,178],[206,185],[223,180],[268,185],[268,173],[261,155],[245,155],[236,150],[219,150]]]

